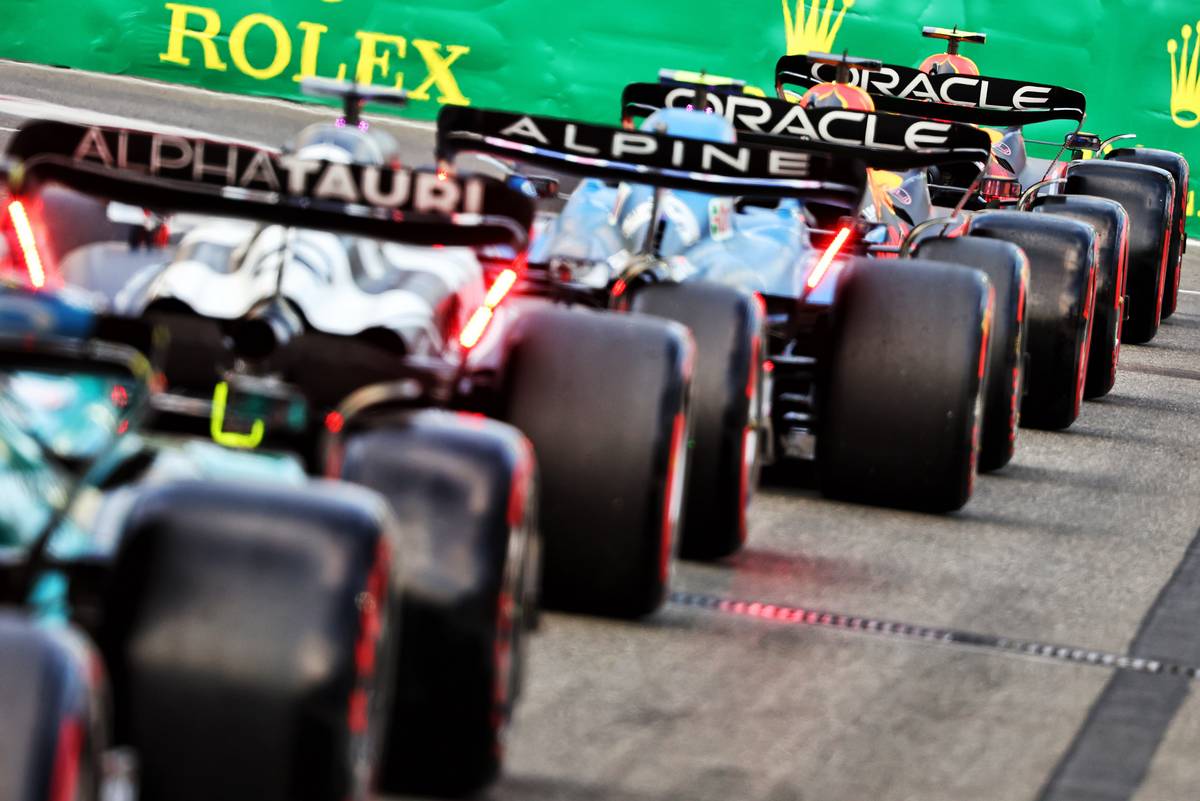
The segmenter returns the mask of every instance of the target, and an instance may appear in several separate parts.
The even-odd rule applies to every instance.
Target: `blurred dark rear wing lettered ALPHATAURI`
[[[17,193],[56,181],[154,210],[241,217],[413,245],[524,247],[533,200],[502,181],[301,159],[233,141],[67,122],[11,140]]]

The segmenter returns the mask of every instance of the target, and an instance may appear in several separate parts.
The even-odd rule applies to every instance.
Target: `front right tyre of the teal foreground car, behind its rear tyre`
[[[403,536],[379,790],[473,793],[500,770],[536,604],[533,452],[510,426],[434,410],[348,417],[330,450],[341,477],[390,501]]]

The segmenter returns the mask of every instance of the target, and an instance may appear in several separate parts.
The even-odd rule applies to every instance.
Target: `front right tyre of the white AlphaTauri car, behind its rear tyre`
[[[646,287],[631,309],[682,323],[696,342],[679,555],[727,556],[745,543],[761,463],[763,306],[750,293],[695,283]]]

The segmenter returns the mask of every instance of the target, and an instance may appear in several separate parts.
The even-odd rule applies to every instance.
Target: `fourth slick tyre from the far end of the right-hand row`
[[[1030,260],[1021,424],[1067,428],[1079,416],[1096,303],[1096,231],[1076,219],[1024,211],[985,211],[971,236],[998,239]]]

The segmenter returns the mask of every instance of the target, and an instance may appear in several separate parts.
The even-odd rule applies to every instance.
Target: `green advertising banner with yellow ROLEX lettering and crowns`
[[[1086,130],[1200,158],[1200,23],[1183,0],[4,0],[0,58],[299,97],[306,76],[444,103],[616,121],[620,88],[661,67],[769,90],[779,55],[917,66],[922,25],[985,31],[984,74],[1081,90]],[[1200,212],[1189,198],[1193,233]]]

